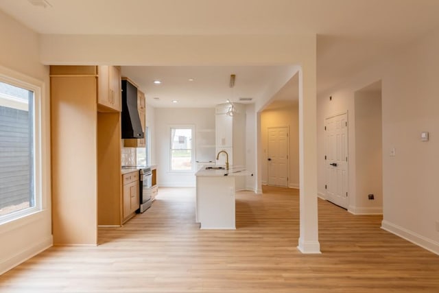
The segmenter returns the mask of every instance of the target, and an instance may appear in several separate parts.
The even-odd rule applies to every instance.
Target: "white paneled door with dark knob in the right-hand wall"
[[[348,115],[325,119],[327,200],[348,208]]]

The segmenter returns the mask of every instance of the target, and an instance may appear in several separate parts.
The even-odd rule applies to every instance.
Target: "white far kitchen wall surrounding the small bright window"
[[[215,108],[156,108],[156,163],[159,187],[195,187],[195,158],[193,172],[170,171],[169,148],[171,126],[193,125],[197,129],[215,129]],[[193,146],[196,145],[196,136]],[[195,154],[196,156],[196,154]]]

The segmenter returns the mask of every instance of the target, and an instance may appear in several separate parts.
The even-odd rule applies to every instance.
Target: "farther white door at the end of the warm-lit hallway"
[[[268,128],[268,185],[288,187],[288,128]]]

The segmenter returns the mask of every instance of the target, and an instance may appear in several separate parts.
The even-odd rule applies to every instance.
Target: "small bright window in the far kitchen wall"
[[[193,128],[171,128],[171,171],[192,171]]]

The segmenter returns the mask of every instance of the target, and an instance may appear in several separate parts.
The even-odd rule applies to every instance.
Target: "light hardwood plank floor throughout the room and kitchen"
[[[237,194],[236,231],[200,231],[194,204],[195,189],[161,188],[147,212],[99,229],[99,246],[49,248],[0,292],[439,292],[439,256],[381,216],[319,200],[322,254],[302,255],[295,189]]]

